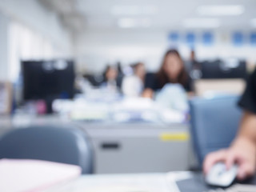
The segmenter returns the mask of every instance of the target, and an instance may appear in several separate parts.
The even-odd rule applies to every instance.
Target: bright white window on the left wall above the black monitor
[[[9,78],[12,82],[18,79],[21,60],[50,59],[57,54],[48,38],[19,22],[10,22],[8,33]]]

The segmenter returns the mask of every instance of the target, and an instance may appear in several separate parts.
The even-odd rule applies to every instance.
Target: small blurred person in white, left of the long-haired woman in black
[[[132,66],[134,74],[126,76],[122,81],[122,93],[130,97],[139,97],[144,90],[145,66],[142,62]]]

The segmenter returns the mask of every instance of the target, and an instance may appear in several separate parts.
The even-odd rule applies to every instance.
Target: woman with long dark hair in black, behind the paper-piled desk
[[[153,98],[154,92],[161,90],[167,83],[179,83],[186,92],[192,91],[191,79],[186,73],[178,50],[168,50],[158,73],[146,77],[143,97]]]

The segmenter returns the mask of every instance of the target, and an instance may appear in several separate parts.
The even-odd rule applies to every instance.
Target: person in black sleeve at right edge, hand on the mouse
[[[212,152],[203,163],[207,174],[216,162],[225,162],[227,169],[238,164],[237,178],[243,180],[256,172],[256,70],[247,81],[246,90],[238,102],[244,114],[237,137],[227,149]]]

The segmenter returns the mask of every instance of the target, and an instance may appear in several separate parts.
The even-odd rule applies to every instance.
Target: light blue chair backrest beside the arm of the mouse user
[[[206,154],[230,146],[237,134],[242,110],[238,96],[193,98],[190,100],[190,126],[198,162]]]

